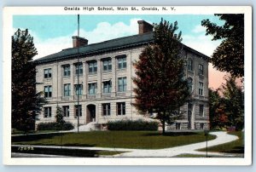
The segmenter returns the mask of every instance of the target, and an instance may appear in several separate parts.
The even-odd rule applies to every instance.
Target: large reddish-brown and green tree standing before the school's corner
[[[181,56],[181,32],[176,34],[177,21],[170,25],[161,20],[154,24],[154,43],[143,49],[135,63],[137,88],[135,106],[140,112],[156,112],[165,134],[166,123],[181,118],[179,111],[189,100],[189,86],[184,77]]]

